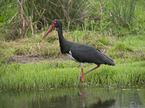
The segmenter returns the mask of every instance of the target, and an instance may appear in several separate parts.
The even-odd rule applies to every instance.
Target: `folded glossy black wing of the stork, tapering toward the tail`
[[[92,46],[85,44],[76,44],[73,45],[70,50],[72,53],[72,57],[74,57],[78,62],[115,65],[110,57],[101,53]]]

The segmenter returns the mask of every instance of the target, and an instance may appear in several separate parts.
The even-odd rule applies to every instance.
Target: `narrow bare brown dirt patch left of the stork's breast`
[[[30,63],[30,62],[39,62],[39,61],[52,61],[52,60],[68,60],[69,57],[67,55],[60,55],[58,57],[42,57],[38,55],[29,55],[29,56],[18,56],[15,55],[7,61],[7,63]]]

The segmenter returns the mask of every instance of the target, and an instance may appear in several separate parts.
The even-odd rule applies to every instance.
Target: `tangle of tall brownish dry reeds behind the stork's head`
[[[34,35],[35,31],[39,31],[43,26],[51,24],[54,19],[61,19],[67,25],[70,22],[72,25],[83,21],[86,17],[84,10],[86,9],[86,1],[78,0],[61,1],[61,0],[13,0],[7,5],[4,4],[2,9],[8,6],[15,7],[15,11],[11,15],[11,20],[4,22],[11,22],[13,32],[8,39],[15,39],[19,37],[28,36],[29,33]],[[10,8],[10,10],[11,10]],[[5,13],[9,13],[6,12]],[[7,24],[8,25],[8,24]],[[9,26],[10,27],[10,26]],[[2,28],[4,29],[4,28]]]

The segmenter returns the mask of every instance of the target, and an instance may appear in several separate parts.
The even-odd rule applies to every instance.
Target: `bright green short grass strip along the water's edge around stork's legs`
[[[0,68],[0,88],[3,90],[46,89],[80,86],[77,79],[81,74],[79,64],[73,61],[50,61],[28,64],[3,65]],[[87,65],[84,71],[95,65]],[[116,66],[102,65],[85,75],[86,85],[103,87],[144,86],[145,61],[117,63]]]

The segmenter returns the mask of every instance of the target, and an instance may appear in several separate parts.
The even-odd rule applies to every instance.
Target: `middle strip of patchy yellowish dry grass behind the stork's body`
[[[60,55],[58,34],[50,33],[40,41],[44,33],[17,41],[0,41],[1,61],[14,55],[58,57]],[[113,37],[90,31],[65,32],[64,37],[72,42],[84,43],[96,47],[111,58],[145,60],[144,36]]]

